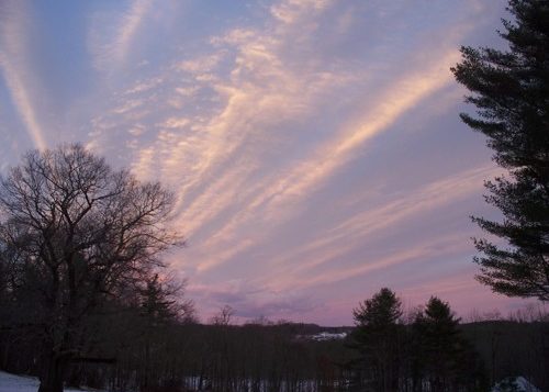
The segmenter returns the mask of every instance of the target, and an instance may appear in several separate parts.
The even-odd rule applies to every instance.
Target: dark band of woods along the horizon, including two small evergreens
[[[155,282],[156,281],[156,282]],[[354,311],[354,327],[258,318],[234,325],[220,311],[210,324],[178,310],[158,280],[133,304],[102,316],[89,357],[72,360],[66,387],[109,391],[489,391],[507,377],[549,387],[549,321],[540,313],[490,316],[460,324],[433,296],[403,311],[382,289]],[[182,317],[182,314],[187,314]],[[317,341],[320,332],[346,332]],[[22,329],[0,335],[0,369],[40,374],[40,337]],[[109,360],[111,359],[111,360]]]

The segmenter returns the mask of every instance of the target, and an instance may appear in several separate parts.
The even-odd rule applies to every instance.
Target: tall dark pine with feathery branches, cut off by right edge
[[[462,47],[452,71],[472,94],[478,116],[461,114],[488,136],[508,177],[486,181],[486,202],[502,222],[473,217],[508,246],[475,239],[479,281],[512,296],[549,300],[549,3],[511,0],[514,21],[500,33],[508,49]]]

